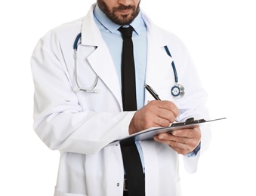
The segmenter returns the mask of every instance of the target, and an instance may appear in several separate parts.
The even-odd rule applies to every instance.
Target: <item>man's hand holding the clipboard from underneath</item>
[[[174,151],[181,155],[187,155],[196,149],[201,141],[199,127],[193,129],[174,130],[172,133],[160,133],[155,136],[157,142],[168,144]]]

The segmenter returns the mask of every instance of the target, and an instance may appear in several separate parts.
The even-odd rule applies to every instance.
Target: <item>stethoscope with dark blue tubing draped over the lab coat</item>
[[[99,81],[99,76],[96,75],[94,84],[91,85],[91,87],[89,87],[88,89],[84,89],[82,87],[80,87],[79,85],[79,81],[78,81],[78,73],[77,73],[77,48],[79,46],[79,44],[81,44],[80,38],[81,38],[82,33],[80,32],[79,35],[76,36],[76,40],[74,42],[73,45],[73,49],[74,49],[74,64],[75,64],[75,81],[76,81],[76,87],[73,88],[73,90],[75,91],[85,91],[86,93],[97,93],[97,90],[95,89],[95,87],[97,86],[97,82]],[[165,46],[165,51],[168,54],[169,57],[171,57],[171,53],[168,50],[168,47]],[[171,62],[171,66],[172,69],[174,71],[174,80],[175,80],[175,85],[173,87],[171,87],[171,95],[174,96],[175,98],[182,98],[185,94],[185,89],[184,86],[181,84],[178,84],[178,78],[177,78],[177,71],[176,71],[176,66],[174,64],[174,61]]]

